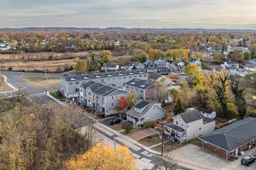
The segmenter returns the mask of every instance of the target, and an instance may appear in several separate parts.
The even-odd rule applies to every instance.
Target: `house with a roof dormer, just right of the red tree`
[[[134,127],[142,126],[147,121],[157,121],[164,118],[164,109],[161,104],[152,100],[139,100],[130,110],[126,112],[127,121],[133,123]]]

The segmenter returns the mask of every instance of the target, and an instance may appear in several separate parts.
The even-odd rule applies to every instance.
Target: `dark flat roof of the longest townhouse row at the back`
[[[106,72],[88,72],[86,74],[78,73],[77,71],[71,73],[65,73],[61,78],[64,78],[67,82],[78,81],[78,80],[95,80],[107,77],[116,76],[129,76],[129,75],[139,75],[147,73],[145,70],[109,70]]]

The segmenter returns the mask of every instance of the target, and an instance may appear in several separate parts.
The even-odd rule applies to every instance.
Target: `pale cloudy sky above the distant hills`
[[[256,0],[0,0],[0,28],[256,29]]]

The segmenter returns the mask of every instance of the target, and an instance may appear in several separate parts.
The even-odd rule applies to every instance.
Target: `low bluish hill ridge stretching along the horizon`
[[[12,28],[3,28],[0,29],[0,32],[87,32],[89,30],[92,31],[153,31],[153,32],[256,32],[254,29],[150,29],[150,28],[132,28],[126,29],[123,27],[108,27],[106,29],[100,28],[77,28],[77,27],[28,27],[28,28],[20,28],[20,29],[12,29]]]

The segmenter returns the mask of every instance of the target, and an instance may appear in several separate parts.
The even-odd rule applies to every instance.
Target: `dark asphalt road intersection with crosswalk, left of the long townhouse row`
[[[26,83],[22,80],[22,76],[44,76],[44,73],[21,73],[21,72],[9,72],[9,71],[2,71],[2,75],[7,77],[7,82],[12,84],[13,87],[16,87],[16,91],[14,92],[6,92],[0,93],[0,97],[10,97],[16,96],[18,93],[25,92],[29,96],[33,97],[33,99],[38,104],[47,104],[47,102],[54,101],[50,97],[47,97],[45,94],[45,88],[36,88],[31,86],[29,83]],[[61,74],[50,74],[48,73],[47,76],[60,76]],[[48,87],[47,90],[54,90],[60,89],[61,87]]]

